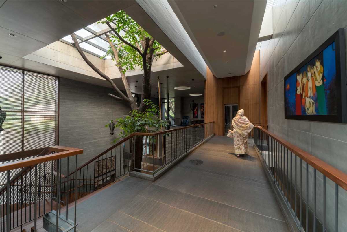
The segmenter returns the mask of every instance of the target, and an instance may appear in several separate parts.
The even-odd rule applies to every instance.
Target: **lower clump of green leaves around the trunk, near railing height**
[[[145,99],[144,104],[147,106],[144,112],[139,112],[138,110],[132,110],[129,116],[125,118],[119,118],[116,120],[115,127],[119,127],[122,132],[119,133],[119,138],[115,141],[124,138],[135,132],[147,132],[147,127],[155,128],[155,131],[159,131],[161,127],[165,126],[167,123],[156,117],[159,112],[158,107],[154,105],[151,100]],[[111,121],[112,122],[112,121]],[[108,127],[105,125],[105,127]]]

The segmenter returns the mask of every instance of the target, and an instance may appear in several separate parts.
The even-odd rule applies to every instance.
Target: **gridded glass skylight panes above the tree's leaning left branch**
[[[105,20],[105,18],[101,20]],[[95,56],[102,57],[105,55],[109,48],[109,43],[105,37],[105,33],[109,33],[112,30],[106,24],[98,24],[98,22],[95,22],[85,28],[82,28],[81,30],[76,31],[75,34],[82,50]],[[116,28],[116,24],[113,23],[112,26]],[[124,36],[125,31],[120,31],[119,34],[121,36]],[[72,38],[70,35],[68,35],[60,39],[60,41],[71,44]],[[105,58],[109,59],[111,58],[111,56]]]

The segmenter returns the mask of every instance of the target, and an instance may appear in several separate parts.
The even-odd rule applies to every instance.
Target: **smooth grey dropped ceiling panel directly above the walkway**
[[[168,2],[217,78],[251,69],[266,0]]]

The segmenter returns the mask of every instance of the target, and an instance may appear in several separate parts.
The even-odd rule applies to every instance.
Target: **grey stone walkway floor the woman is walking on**
[[[214,136],[154,183],[111,185],[78,204],[78,229],[289,232],[252,144],[244,158],[233,151],[231,139]]]

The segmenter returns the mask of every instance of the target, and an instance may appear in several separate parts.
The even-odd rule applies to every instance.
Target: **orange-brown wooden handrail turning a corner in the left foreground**
[[[23,168],[27,166],[32,166],[35,164],[40,164],[52,160],[62,159],[69,156],[75,156],[83,153],[83,149],[62,147],[62,146],[51,146],[48,147],[50,151],[55,151],[58,153],[37,156],[29,159],[13,161],[9,163],[0,164],[0,172],[6,172],[17,168]]]

